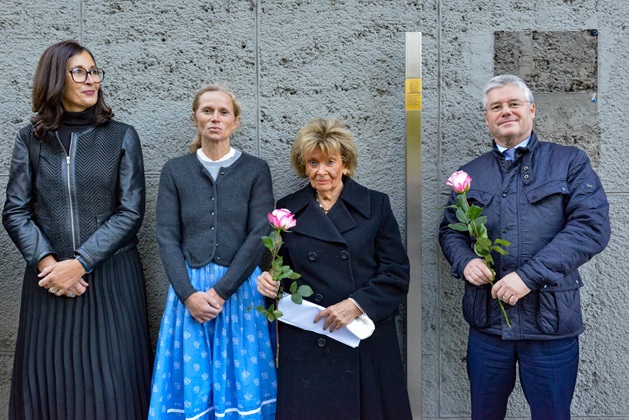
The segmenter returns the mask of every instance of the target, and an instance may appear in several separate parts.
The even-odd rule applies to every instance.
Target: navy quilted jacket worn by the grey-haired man
[[[496,280],[516,271],[531,289],[515,306],[505,305],[512,328],[491,298],[491,286],[465,282],[463,315],[472,327],[503,339],[556,339],[583,332],[577,269],[609,241],[609,204],[582,150],[541,142],[532,134],[508,168],[494,145],[461,170],[472,177],[468,202],[484,208],[490,239],[511,242],[508,255],[494,255]],[[449,204],[456,195],[450,196]],[[439,230],[452,275],[463,278],[476,258],[469,235],[454,231],[452,209]]]

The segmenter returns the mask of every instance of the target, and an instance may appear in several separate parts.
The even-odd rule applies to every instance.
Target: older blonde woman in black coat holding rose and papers
[[[285,264],[323,306],[313,322],[342,329],[366,314],[373,335],[352,348],[281,323],[276,419],[410,419],[395,316],[409,285],[409,263],[386,194],[351,177],[358,154],[336,119],[302,127],[291,164],[308,185],[278,201],[297,225],[283,235]],[[279,284],[264,272],[258,291],[273,298]],[[286,289],[286,287],[285,287]]]

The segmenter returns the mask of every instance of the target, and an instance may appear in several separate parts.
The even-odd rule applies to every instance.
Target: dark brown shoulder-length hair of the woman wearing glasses
[[[66,88],[66,65],[68,60],[77,54],[87,52],[92,59],[94,55],[76,41],[61,41],[46,48],[43,52],[33,79],[33,112],[31,118],[34,135],[44,138],[48,131],[56,130],[63,120],[61,100]],[[94,60],[96,62],[96,60]],[[114,116],[113,111],[105,103],[103,90],[98,89],[96,105],[92,107],[90,121],[96,126],[107,124]]]

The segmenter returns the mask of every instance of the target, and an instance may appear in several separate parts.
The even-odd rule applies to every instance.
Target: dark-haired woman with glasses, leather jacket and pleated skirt
[[[104,70],[74,41],[42,54],[2,221],[26,260],[10,419],[141,419],[152,352],[136,234],[144,168]]]

